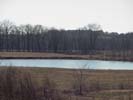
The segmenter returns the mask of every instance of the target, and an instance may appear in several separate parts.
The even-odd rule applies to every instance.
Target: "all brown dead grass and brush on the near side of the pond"
[[[0,68],[0,100],[132,100],[133,71]]]

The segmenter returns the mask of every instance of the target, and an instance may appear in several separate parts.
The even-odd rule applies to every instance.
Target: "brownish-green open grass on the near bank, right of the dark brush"
[[[6,68],[0,68],[0,70],[4,69]],[[30,73],[31,79],[35,82],[37,88],[43,87],[46,78],[49,78],[51,82],[56,84],[54,88],[64,97],[62,100],[133,100],[133,71],[130,70],[75,70],[27,67],[17,69]],[[79,82],[76,78],[80,77],[81,71],[85,90],[83,90],[82,95],[78,95],[75,94],[76,88],[73,86]]]

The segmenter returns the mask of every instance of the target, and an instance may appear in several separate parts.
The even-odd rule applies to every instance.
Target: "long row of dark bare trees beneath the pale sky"
[[[95,53],[132,51],[133,32],[104,32],[97,25],[76,30],[48,29],[42,25],[0,22],[0,51]]]

